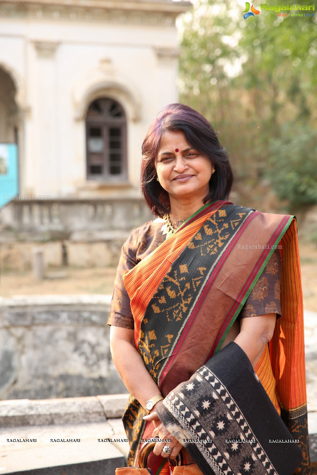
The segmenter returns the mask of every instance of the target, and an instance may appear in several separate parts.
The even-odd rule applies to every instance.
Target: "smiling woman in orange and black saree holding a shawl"
[[[158,436],[147,459],[154,475],[170,474],[166,459],[180,452],[186,470],[174,475],[291,475],[302,454],[298,473],[308,475],[294,217],[227,201],[228,153],[186,105],[158,114],[142,154],[142,191],[157,218],[122,248],[108,320],[113,360],[131,392],[128,465]],[[216,386],[198,383],[205,371]],[[281,417],[300,448],[269,445],[277,434],[292,438]],[[226,442],[242,428],[249,444]],[[203,442],[193,447],[192,439]]]

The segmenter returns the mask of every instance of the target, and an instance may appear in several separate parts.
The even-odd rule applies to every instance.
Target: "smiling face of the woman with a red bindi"
[[[156,172],[170,196],[203,200],[209,193],[211,171],[211,161],[189,145],[183,132],[163,133]]]

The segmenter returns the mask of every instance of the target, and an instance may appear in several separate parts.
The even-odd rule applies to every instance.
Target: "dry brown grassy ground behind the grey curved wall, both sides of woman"
[[[317,310],[317,247],[299,242],[304,308]],[[0,295],[45,294],[112,294],[115,280],[114,267],[80,269],[65,267],[49,269],[43,281],[37,281],[32,272],[6,272],[0,274]]]

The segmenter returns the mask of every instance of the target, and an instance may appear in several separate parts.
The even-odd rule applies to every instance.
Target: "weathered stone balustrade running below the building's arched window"
[[[143,200],[16,199],[0,210],[3,230],[68,237],[75,231],[130,230],[151,219]]]

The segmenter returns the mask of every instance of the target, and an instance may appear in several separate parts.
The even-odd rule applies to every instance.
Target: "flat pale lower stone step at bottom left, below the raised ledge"
[[[108,421],[1,428],[0,474],[114,475],[125,466],[127,442],[104,440],[122,440],[122,431],[122,422],[116,427]]]

